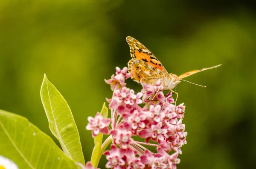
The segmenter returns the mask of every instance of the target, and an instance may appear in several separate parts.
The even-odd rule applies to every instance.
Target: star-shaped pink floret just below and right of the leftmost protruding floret
[[[129,130],[128,125],[125,127],[124,124],[121,124],[118,129],[112,130],[110,134],[113,136],[114,143],[123,149],[126,149],[134,141],[131,138],[132,132]]]

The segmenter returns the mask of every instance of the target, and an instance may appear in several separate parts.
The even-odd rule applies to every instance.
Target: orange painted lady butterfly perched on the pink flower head
[[[128,36],[126,37],[126,41],[130,46],[130,53],[132,58],[128,62],[128,71],[132,75],[131,78],[137,83],[140,83],[140,80],[142,80],[144,83],[154,85],[157,80],[160,79],[164,90],[171,90],[172,92],[174,92],[172,89],[175,88],[176,85],[180,83],[180,80],[182,80],[183,78],[198,72],[221,66],[220,64],[209,68],[192,70],[181,74],[180,76],[172,73],[169,74],[167,70],[163,67],[163,64],[157,59],[157,57],[155,57],[154,54],[152,54],[138,40],[131,36]]]

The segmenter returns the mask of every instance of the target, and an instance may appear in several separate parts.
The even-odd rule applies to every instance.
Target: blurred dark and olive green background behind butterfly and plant
[[[188,132],[178,169],[255,168],[256,7],[249,1],[2,0],[0,109],[53,137],[40,99],[46,73],[69,103],[90,160],[87,116],[111,97],[104,79],[130,60],[127,35],[175,74],[222,63],[186,78],[207,88],[177,86]]]

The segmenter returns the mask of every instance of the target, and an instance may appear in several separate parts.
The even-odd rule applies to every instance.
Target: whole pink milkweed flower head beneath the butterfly
[[[116,75],[105,80],[111,85],[112,98],[107,99],[111,119],[88,117],[88,130],[95,137],[100,132],[113,137],[111,149],[104,155],[111,169],[176,169],[178,155],[186,144],[187,132],[182,123],[184,103],[176,106],[172,93],[164,95],[160,80],[154,85],[143,83],[141,92],[126,86],[131,77],[128,69],[116,68]],[[139,141],[138,137],[144,141]],[[141,140],[141,139],[140,139]],[[147,148],[155,147],[151,152]]]

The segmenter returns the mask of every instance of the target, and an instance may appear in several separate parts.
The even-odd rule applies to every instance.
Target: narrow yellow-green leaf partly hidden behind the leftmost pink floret
[[[108,108],[105,106],[105,102],[102,106],[102,110],[100,114],[103,116],[104,119],[108,118]],[[99,164],[99,160],[102,156],[101,152],[101,146],[102,146],[102,139],[103,139],[103,134],[99,133],[96,137],[94,137],[94,148],[92,152],[92,157],[91,157],[91,163],[93,164],[94,167],[97,167]]]

